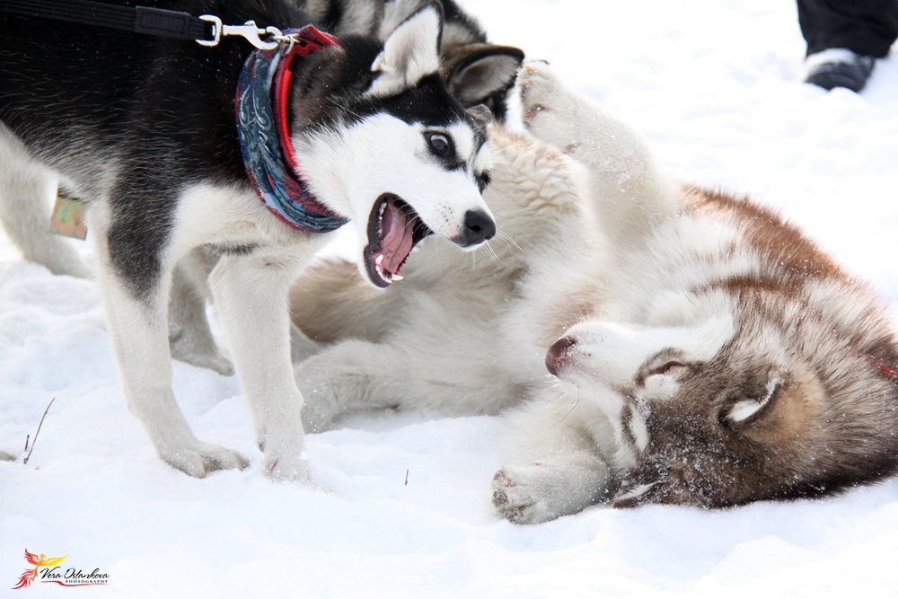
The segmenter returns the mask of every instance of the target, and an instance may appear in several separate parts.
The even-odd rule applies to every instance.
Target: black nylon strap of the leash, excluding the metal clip
[[[0,0],[0,11],[146,33],[177,40],[211,40],[212,23],[188,13],[92,0]]]

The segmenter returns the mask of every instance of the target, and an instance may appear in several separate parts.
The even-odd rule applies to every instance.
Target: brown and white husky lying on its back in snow
[[[484,197],[509,240],[490,243],[495,262],[422,246],[415,286],[361,308],[326,270],[301,279],[354,300],[315,322],[295,302],[304,329],[370,339],[299,368],[309,424],[347,406],[492,413],[529,398],[507,415],[492,483],[517,523],[603,500],[813,497],[894,473],[898,344],[867,288],[769,210],[676,186],[548,67],[519,85],[528,128],[564,154],[494,129]]]

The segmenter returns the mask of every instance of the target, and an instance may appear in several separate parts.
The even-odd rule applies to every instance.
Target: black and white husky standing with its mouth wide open
[[[286,0],[141,4],[261,28],[308,22]],[[378,287],[399,277],[409,251],[429,233],[473,248],[495,231],[480,198],[490,163],[483,132],[439,74],[440,6],[424,5],[383,43],[346,36],[288,66],[295,46],[286,42],[251,55],[239,38],[205,48],[2,8],[0,206],[7,233],[26,250],[39,244],[42,256],[63,262],[51,238],[31,235],[46,223],[38,199],[57,180],[91,198],[88,225],[128,407],[163,460],[198,477],[246,465],[241,455],[199,441],[172,394],[172,270],[197,248],[215,256],[210,284],[265,469],[276,479],[306,480],[286,297],[328,238],[309,230],[351,219],[363,240],[360,272]],[[269,171],[248,175],[260,154],[249,152],[244,165],[235,127],[242,70],[261,72],[264,82],[276,66],[284,66],[277,74],[284,83],[270,96],[280,102],[277,141],[292,183]],[[241,106],[259,128],[243,131],[244,145],[261,145],[273,127],[265,113],[253,116],[255,104]],[[277,192],[257,193],[251,177],[260,189],[304,185],[313,224],[297,225],[289,201],[280,211],[263,204],[260,197],[270,202]]]

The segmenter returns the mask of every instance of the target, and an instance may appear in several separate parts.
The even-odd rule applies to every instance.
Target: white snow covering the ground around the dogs
[[[800,83],[783,0],[464,0],[493,40],[641,130],[688,181],[779,208],[867,278],[898,320],[898,61],[861,95]],[[501,224],[500,224],[501,225]],[[837,498],[709,512],[587,509],[497,519],[497,418],[370,414],[308,438],[331,492],[260,471],[233,378],[174,364],[197,435],[251,456],[194,480],[125,409],[94,283],[22,262],[0,237],[0,589],[27,549],[109,575],[3,596],[894,596],[898,480]],[[31,461],[25,436],[50,408]]]

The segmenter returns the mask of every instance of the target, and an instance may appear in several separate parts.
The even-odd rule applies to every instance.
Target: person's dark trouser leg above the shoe
[[[848,48],[885,57],[898,38],[898,0],[797,0],[807,54]]]

